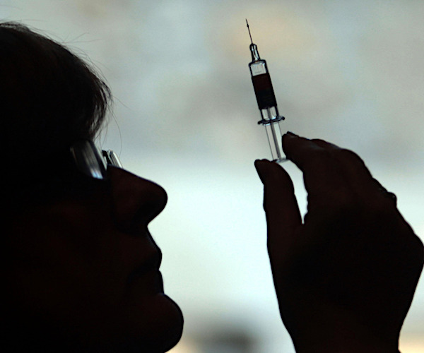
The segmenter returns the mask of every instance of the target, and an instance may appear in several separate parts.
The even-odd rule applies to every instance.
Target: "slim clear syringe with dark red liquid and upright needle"
[[[283,162],[286,159],[281,145],[281,136],[283,134],[281,133],[280,123],[285,118],[278,114],[276,96],[273,92],[271,76],[269,76],[266,61],[259,56],[257,44],[253,44],[247,19],[246,23],[251,42],[249,48],[252,54],[252,62],[249,63],[249,69],[252,76],[254,94],[257,97],[258,107],[262,116],[258,124],[265,126],[272,159],[275,162]]]

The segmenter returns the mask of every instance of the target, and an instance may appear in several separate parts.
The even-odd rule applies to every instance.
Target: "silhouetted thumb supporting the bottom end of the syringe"
[[[254,165],[264,184],[269,253],[271,257],[281,256],[289,248],[295,230],[302,225],[293,182],[275,162],[257,160]]]

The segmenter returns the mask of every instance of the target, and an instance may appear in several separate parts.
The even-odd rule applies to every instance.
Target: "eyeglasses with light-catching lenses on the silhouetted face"
[[[90,140],[73,143],[71,155],[78,170],[95,179],[107,179],[107,165],[122,168],[122,163],[115,152],[100,150]]]

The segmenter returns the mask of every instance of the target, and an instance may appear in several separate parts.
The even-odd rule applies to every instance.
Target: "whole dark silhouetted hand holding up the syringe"
[[[303,222],[287,172],[266,160],[255,167],[281,318],[296,351],[398,352],[422,242],[354,152],[290,133],[283,150],[303,172]]]

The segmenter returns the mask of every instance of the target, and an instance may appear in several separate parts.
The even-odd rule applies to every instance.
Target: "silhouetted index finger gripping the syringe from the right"
[[[293,134],[283,136],[283,150],[288,159],[302,170],[310,203],[336,207],[351,198],[343,169],[329,150]]]

